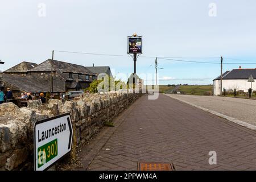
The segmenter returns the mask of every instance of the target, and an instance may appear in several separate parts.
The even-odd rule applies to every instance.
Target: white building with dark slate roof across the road
[[[256,68],[255,69],[233,69],[232,71],[226,71],[222,74],[222,90],[243,90],[243,92],[248,92],[251,88],[251,82],[248,82],[250,75],[256,78]],[[256,82],[253,82],[253,90],[256,90]],[[221,76],[218,76],[213,80],[213,94],[218,96],[221,94]]]

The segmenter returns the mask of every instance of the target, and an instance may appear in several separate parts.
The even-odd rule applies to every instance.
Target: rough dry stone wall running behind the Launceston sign
[[[87,142],[105,121],[112,121],[141,94],[122,91],[89,94],[74,101],[32,101],[28,107],[0,105],[0,170],[33,169],[34,123],[55,115],[71,113],[73,148]],[[73,150],[74,151],[74,150]]]

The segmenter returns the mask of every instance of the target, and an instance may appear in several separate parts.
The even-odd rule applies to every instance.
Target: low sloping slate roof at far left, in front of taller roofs
[[[39,93],[49,92],[50,90],[49,80],[40,77],[4,74],[2,81],[15,86],[24,92]],[[65,81],[55,77],[53,79],[53,92],[65,92]]]

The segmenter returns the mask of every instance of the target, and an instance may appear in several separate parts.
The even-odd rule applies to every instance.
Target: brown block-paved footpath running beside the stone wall
[[[209,165],[209,151],[217,165]],[[88,170],[137,170],[139,160],[173,162],[176,170],[256,170],[256,132],[163,94],[145,95],[79,155]]]

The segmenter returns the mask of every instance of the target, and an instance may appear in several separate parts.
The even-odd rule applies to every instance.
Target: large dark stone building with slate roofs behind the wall
[[[53,75],[53,93],[55,94],[83,90],[97,79],[97,73],[89,71],[82,65],[51,59],[39,65],[22,62],[4,73],[3,84],[5,88],[11,88],[14,93],[47,93],[51,88],[51,75]]]

